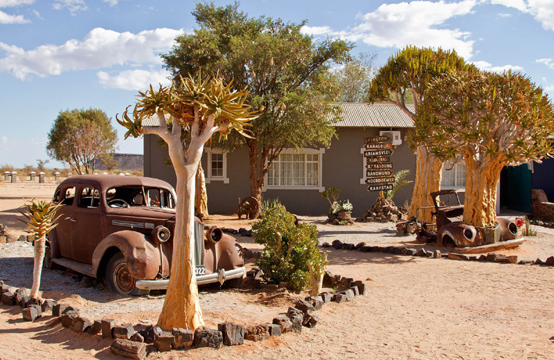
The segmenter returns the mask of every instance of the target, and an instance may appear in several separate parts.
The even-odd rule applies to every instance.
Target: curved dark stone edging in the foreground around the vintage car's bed
[[[256,277],[256,273],[253,274]],[[142,330],[136,331],[131,324],[120,324],[113,319],[90,320],[80,316],[79,309],[57,303],[55,300],[31,298],[28,289],[17,289],[4,285],[0,280],[0,302],[9,306],[20,306],[25,321],[35,321],[43,312],[51,312],[62,323],[63,327],[91,335],[101,335],[105,339],[115,339],[111,350],[116,354],[133,359],[144,359],[148,353],[158,350],[187,350],[191,348],[221,348],[223,345],[242,345],[244,340],[262,341],[269,336],[280,336],[286,332],[301,334],[302,327],[313,328],[319,321],[314,311],[323,304],[334,301],[344,303],[355,296],[366,295],[366,283],[352,278],[333,276],[325,271],[323,286],[339,288],[338,291],[323,292],[319,296],[308,296],[305,300],[296,300],[289,307],[287,314],[277,316],[272,323],[243,326],[233,323],[220,323],[217,330],[199,327],[194,332],[182,328],[172,328],[171,332],[161,330],[158,326],[139,324]],[[152,344],[152,345],[147,345]]]

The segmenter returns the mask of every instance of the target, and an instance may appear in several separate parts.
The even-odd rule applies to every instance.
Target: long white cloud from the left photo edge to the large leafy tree
[[[160,53],[168,51],[183,30],[157,28],[138,34],[118,33],[104,28],[91,30],[84,38],[68,40],[63,45],[42,45],[24,51],[0,42],[8,54],[0,59],[0,72],[29,80],[33,75],[44,78],[64,71],[102,69],[125,64],[161,64]]]

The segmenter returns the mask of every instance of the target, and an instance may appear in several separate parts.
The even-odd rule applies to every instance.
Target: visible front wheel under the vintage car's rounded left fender
[[[106,267],[106,285],[109,291],[116,294],[143,296],[150,291],[136,287],[136,279],[129,273],[123,253],[112,256]]]

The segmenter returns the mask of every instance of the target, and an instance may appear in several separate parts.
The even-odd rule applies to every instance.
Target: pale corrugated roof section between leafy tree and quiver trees
[[[338,127],[413,127],[413,120],[394,104],[342,102],[342,121]],[[414,111],[413,105],[406,106]]]

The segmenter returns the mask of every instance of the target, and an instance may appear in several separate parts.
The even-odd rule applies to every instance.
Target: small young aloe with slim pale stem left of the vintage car
[[[40,287],[40,277],[42,275],[42,262],[44,261],[44,251],[46,249],[46,234],[57,226],[55,221],[62,215],[56,212],[62,206],[53,204],[49,201],[25,201],[24,211],[19,211],[26,220],[18,219],[24,222],[29,229],[28,233],[33,235],[35,242],[35,266],[33,267],[33,287],[30,290],[30,296],[38,297]]]

